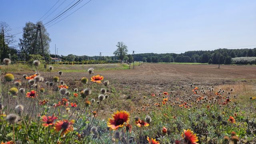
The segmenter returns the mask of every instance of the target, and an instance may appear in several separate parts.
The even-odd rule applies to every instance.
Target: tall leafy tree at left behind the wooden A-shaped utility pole
[[[40,54],[43,56],[39,25],[41,28],[44,55],[50,54],[51,39],[49,37],[49,33],[47,32],[41,21],[37,22],[36,24],[32,22],[26,23],[25,27],[23,28],[22,39],[20,39],[19,43],[21,53],[25,53],[26,55]]]

